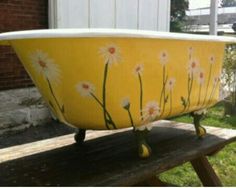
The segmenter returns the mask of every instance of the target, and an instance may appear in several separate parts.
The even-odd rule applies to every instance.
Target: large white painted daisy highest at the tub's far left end
[[[47,53],[36,50],[30,54],[30,61],[37,73],[42,74],[50,81],[54,81],[55,83],[59,82],[60,69],[58,65],[54,63],[54,60],[48,57]]]

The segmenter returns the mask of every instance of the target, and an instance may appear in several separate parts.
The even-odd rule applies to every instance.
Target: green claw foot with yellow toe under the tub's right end
[[[193,117],[193,123],[196,130],[196,134],[198,138],[203,138],[206,135],[206,129],[201,126],[200,121],[203,118],[205,112],[199,113],[199,112],[192,112],[191,115]]]

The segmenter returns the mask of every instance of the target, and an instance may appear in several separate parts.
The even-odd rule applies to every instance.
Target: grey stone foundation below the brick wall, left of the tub
[[[50,120],[50,111],[35,87],[0,92],[0,135]]]

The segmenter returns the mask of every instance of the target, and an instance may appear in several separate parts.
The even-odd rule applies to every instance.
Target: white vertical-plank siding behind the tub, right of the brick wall
[[[170,0],[49,0],[50,28],[169,31]]]

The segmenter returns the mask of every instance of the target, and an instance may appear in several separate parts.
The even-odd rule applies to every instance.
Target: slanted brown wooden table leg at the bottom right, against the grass
[[[203,186],[222,186],[206,156],[201,156],[191,161],[191,164],[200,178]]]

